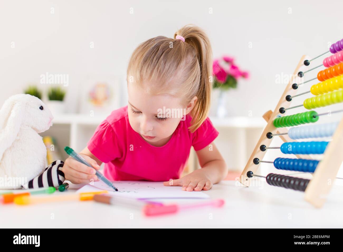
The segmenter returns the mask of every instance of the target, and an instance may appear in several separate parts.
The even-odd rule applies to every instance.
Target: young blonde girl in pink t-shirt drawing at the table
[[[209,190],[227,175],[207,117],[212,90],[212,49],[203,30],[186,25],[174,39],[140,44],[128,69],[128,105],[96,129],[81,155],[113,180],[165,181],[184,191]],[[191,146],[201,169],[180,178]],[[72,183],[97,181],[95,170],[72,158],[62,171]]]

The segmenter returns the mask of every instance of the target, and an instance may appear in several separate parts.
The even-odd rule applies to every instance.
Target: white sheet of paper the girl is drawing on
[[[203,192],[182,191],[179,186],[165,186],[163,182],[150,181],[114,181],[115,191],[103,181],[94,182],[93,185],[87,184],[76,191],[96,192],[106,190],[109,194],[127,196],[135,199],[207,199],[210,196]]]

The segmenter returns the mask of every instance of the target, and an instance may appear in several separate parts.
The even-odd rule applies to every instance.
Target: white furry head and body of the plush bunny
[[[35,96],[18,94],[5,101],[0,110],[0,189],[21,188],[44,171],[47,151],[38,133],[48,130],[52,119]]]

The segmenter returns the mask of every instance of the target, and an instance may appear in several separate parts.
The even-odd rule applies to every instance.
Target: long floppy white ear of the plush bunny
[[[0,110],[0,160],[19,133],[23,113],[23,103],[14,97],[7,99]]]

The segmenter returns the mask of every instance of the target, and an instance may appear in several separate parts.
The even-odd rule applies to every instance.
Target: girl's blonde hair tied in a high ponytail
[[[177,35],[185,38],[175,39]],[[196,131],[208,116],[211,104],[212,49],[203,29],[189,24],[174,39],[157,36],[141,43],[132,53],[127,80],[152,94],[184,97],[187,105],[198,97],[190,115],[190,132]],[[211,78],[212,79],[212,78]],[[173,80],[176,82],[171,83]],[[143,86],[143,81],[149,83]]]

